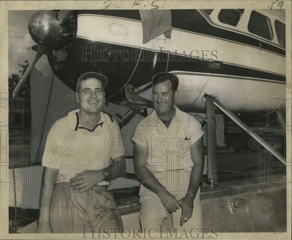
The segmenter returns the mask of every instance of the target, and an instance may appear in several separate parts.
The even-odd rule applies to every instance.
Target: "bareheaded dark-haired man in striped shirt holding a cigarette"
[[[141,182],[140,223],[146,231],[199,232],[204,132],[195,117],[174,105],[176,75],[159,73],[152,87],[155,109],[138,123],[132,138]]]

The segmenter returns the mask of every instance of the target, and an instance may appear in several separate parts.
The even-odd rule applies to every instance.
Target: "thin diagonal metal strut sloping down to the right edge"
[[[236,117],[229,109],[227,109],[219,100],[214,100],[215,106],[225,113],[230,119],[232,119],[239,127],[241,127],[248,135],[251,135],[255,138],[265,149],[270,151],[277,159],[286,165],[286,160],[278,151],[271,149],[269,144],[263,140],[252,128],[249,128],[244,122],[242,122],[238,117]],[[208,125],[207,125],[208,126]],[[208,131],[207,131],[208,134]]]

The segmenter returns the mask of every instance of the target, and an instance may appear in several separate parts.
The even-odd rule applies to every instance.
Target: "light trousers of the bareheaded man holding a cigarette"
[[[185,170],[176,170],[168,172],[154,172],[153,175],[156,179],[160,179],[160,183],[171,193],[177,200],[186,196],[187,189],[190,182],[190,172]],[[182,232],[183,228],[187,232],[198,232],[202,227],[202,210],[200,203],[200,188],[197,191],[196,198],[194,200],[194,208],[192,217],[180,226],[180,219],[182,216],[182,208],[170,213],[166,211],[161,203],[160,197],[153,191],[147,189],[141,184],[140,187],[140,223],[141,227],[147,229],[156,227],[157,231],[160,230],[159,224],[163,224],[162,231],[166,232],[166,227],[171,232],[176,229],[178,232]],[[193,228],[193,229],[192,229]],[[197,229],[194,229],[197,228]]]

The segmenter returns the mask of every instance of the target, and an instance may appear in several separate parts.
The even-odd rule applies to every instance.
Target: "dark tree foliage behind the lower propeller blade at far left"
[[[26,60],[24,64],[18,63],[19,66],[19,74],[12,74],[10,77],[8,77],[8,94],[9,97],[12,97],[13,90],[15,89],[16,85],[18,84],[21,76],[25,73],[27,68],[29,67],[29,62]],[[20,88],[18,95],[21,97],[27,97],[29,98],[30,95],[30,74],[28,75],[27,79],[25,80],[24,84]]]

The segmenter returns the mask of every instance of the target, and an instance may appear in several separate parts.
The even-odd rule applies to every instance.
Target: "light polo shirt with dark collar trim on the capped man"
[[[69,182],[85,170],[108,167],[111,159],[125,155],[119,126],[112,117],[100,112],[100,122],[89,130],[79,125],[77,112],[56,121],[48,133],[42,166],[59,169],[56,183]]]

